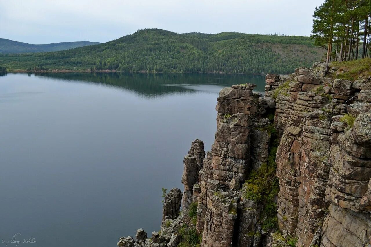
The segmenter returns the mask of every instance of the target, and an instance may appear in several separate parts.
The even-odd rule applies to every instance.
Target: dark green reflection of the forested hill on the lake
[[[216,74],[153,74],[153,73],[36,73],[36,76],[50,77],[64,81],[79,81],[115,86],[136,92],[147,98],[171,93],[192,91],[219,92],[221,87],[234,84],[257,84],[255,92],[263,92],[263,75],[216,75]],[[209,85],[207,88],[202,85]],[[212,87],[214,85],[214,87]],[[211,90],[211,91],[210,91]]]

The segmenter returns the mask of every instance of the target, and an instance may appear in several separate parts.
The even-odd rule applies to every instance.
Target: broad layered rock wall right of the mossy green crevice
[[[296,246],[368,246],[371,216],[361,200],[370,197],[371,142],[363,137],[371,128],[371,83],[326,78],[316,65],[296,69],[288,82],[268,75],[268,85],[271,78],[282,90],[277,95],[266,87],[266,95],[276,93],[275,125],[282,134],[280,231],[297,237]],[[340,120],[345,113],[357,117],[352,128]]]

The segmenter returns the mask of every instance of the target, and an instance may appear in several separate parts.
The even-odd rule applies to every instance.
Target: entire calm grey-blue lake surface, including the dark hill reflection
[[[159,230],[161,188],[183,190],[191,142],[214,141],[219,90],[244,82],[264,90],[260,75],[1,76],[0,246],[17,233],[27,246],[116,246]]]

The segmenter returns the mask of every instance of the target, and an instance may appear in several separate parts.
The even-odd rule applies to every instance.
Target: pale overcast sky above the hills
[[[0,0],[0,37],[107,42],[138,29],[309,36],[324,0]]]

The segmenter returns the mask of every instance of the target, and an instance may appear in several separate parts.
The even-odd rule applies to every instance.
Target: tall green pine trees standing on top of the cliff
[[[311,37],[327,49],[326,70],[331,60],[371,57],[371,0],[325,0],[313,17]]]

